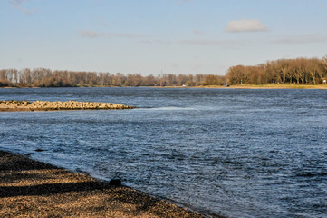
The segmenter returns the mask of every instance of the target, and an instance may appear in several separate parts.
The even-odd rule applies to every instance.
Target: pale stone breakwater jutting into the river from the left
[[[132,108],[123,104],[97,102],[0,101],[0,111],[117,110]]]

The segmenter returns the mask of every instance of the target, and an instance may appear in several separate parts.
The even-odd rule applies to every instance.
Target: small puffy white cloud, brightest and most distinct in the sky
[[[261,23],[258,19],[254,20],[235,20],[230,21],[226,25],[226,32],[233,32],[233,33],[239,33],[239,32],[259,32],[259,31],[267,31],[267,27]]]

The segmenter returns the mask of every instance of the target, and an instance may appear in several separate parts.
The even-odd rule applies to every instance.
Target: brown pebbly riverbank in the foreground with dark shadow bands
[[[89,175],[0,151],[0,217],[208,217]]]

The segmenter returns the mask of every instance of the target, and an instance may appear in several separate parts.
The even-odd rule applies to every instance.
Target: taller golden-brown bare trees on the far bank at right
[[[228,84],[324,84],[327,55],[319,58],[279,59],[255,66],[236,65],[228,69]]]

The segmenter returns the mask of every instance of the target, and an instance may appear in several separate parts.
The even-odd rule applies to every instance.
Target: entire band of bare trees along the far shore
[[[279,59],[255,66],[236,65],[225,75],[215,74],[110,74],[52,71],[45,68],[0,70],[2,87],[77,86],[199,86],[224,84],[324,84],[327,55],[318,58]]]

